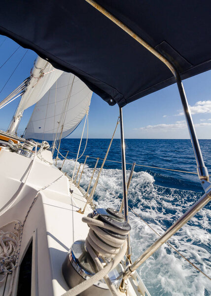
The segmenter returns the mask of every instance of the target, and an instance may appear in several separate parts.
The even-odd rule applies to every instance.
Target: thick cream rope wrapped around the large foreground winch
[[[118,296],[118,292],[111,283],[107,274],[119,264],[127,251],[127,240],[124,238],[116,238],[114,235],[127,235],[129,231],[118,229],[100,220],[92,219],[91,214],[88,214],[87,217],[83,217],[82,221],[87,223],[90,227],[86,238],[86,248],[96,263],[99,271],[88,280],[70,289],[68,292],[63,294],[63,296],[76,296],[103,278],[110,290],[110,293],[113,296]],[[112,231],[114,235],[108,234],[104,229]],[[98,256],[101,256],[104,259],[110,259],[110,262],[104,267]]]

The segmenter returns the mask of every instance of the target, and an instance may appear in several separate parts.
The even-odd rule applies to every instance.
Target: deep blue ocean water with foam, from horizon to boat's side
[[[61,153],[69,150],[63,170],[72,174],[79,139],[63,139]],[[87,158],[80,185],[86,190],[96,157],[104,158],[109,139],[89,139],[83,163]],[[211,140],[200,140],[205,165],[211,173]],[[162,234],[203,194],[197,175],[147,168],[146,166],[196,172],[190,140],[126,139],[127,175],[136,162],[128,191],[129,206],[153,229]],[[79,155],[85,146],[85,140]],[[55,153],[56,156],[56,153]],[[62,159],[62,158],[61,158]],[[120,140],[114,139],[94,196],[100,207],[118,208],[122,198]],[[57,165],[62,163],[58,161]],[[99,160],[98,168],[102,160]],[[140,166],[139,166],[140,165]],[[95,174],[96,178],[97,173]],[[187,259],[211,277],[211,206],[208,204],[183,226],[169,242]],[[133,212],[131,240],[133,259],[138,258],[156,239],[155,234]],[[139,274],[152,296],[208,296],[211,281],[182,259],[168,245],[163,245],[139,268]]]

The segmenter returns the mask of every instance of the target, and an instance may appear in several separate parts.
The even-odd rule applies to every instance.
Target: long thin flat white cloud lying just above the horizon
[[[203,122],[203,123],[197,123],[194,125],[195,127],[200,127],[200,126],[211,126],[211,123],[208,122]],[[139,127],[139,128],[134,128],[135,130],[176,130],[176,129],[184,129],[187,128],[187,125],[185,123],[185,120],[180,120],[176,121],[176,123],[172,124],[156,124],[156,125],[147,125],[145,127]]]

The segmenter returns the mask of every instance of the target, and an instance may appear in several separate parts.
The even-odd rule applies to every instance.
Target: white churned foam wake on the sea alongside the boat
[[[59,160],[57,164],[61,166],[62,161]],[[63,170],[71,176],[73,167],[74,161],[66,160]],[[92,171],[93,168],[85,166],[80,182],[85,190]],[[94,179],[96,176],[97,173]],[[121,199],[118,197],[122,197],[121,192],[121,171],[103,169],[95,194],[99,207],[119,207]],[[200,194],[193,191],[155,185],[154,178],[146,172],[134,172],[128,191],[129,205],[159,234],[175,222],[199,196]],[[183,256],[209,276],[211,276],[209,264],[211,236],[208,232],[210,218],[209,209],[201,210],[169,240],[169,243]],[[133,213],[130,213],[130,223],[133,260],[135,260],[158,236]],[[166,244],[144,262],[139,268],[139,273],[152,296],[210,295],[211,281]]]

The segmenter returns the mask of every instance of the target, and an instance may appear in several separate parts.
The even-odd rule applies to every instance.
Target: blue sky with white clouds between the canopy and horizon
[[[3,65],[16,49],[13,56]],[[0,36],[0,101],[30,75],[36,54],[31,50],[26,51],[27,49],[19,47],[9,38]],[[3,87],[25,53],[17,70]],[[211,139],[211,71],[188,78],[183,84],[198,138]],[[18,103],[19,99],[0,110],[0,129],[7,129]],[[24,112],[19,134],[24,131],[33,108]],[[118,114],[117,105],[110,107],[99,96],[93,94],[89,112],[89,138],[110,138]],[[123,117],[125,138],[189,138],[176,84],[125,106]],[[82,127],[83,122],[70,137],[79,138]],[[120,137],[119,130],[115,137]]]

